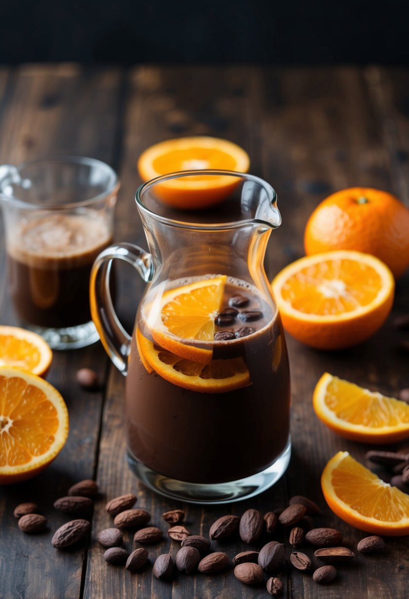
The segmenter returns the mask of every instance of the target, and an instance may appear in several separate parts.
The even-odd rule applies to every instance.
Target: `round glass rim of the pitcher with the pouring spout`
[[[172,179],[179,179],[181,177],[190,177],[190,176],[197,177],[198,175],[237,177],[238,179],[246,179],[249,181],[254,181],[254,183],[258,183],[261,187],[263,187],[266,190],[267,196],[269,198],[269,204],[270,205],[276,204],[277,194],[275,192],[275,189],[273,189],[273,187],[270,185],[270,183],[267,183],[267,181],[264,181],[264,179],[261,179],[261,177],[251,175],[249,173],[240,173],[239,171],[227,171],[227,170],[221,170],[221,169],[211,169],[211,170],[195,169],[192,171],[178,171],[176,173],[169,173],[166,175],[161,175],[160,177],[155,177],[155,179],[146,181],[145,183],[140,185],[138,187],[138,189],[136,190],[135,200],[136,200],[137,207],[140,208],[140,210],[142,210],[143,213],[147,214],[148,216],[155,217],[155,219],[157,219],[161,223],[164,223],[166,225],[177,226],[177,227],[184,228],[184,229],[200,229],[203,231],[206,231],[206,230],[214,231],[215,229],[216,230],[218,230],[218,229],[237,229],[244,225],[249,225],[250,223],[251,224],[254,224],[254,223],[266,224],[266,222],[264,220],[251,219],[251,218],[236,220],[233,222],[227,221],[227,222],[222,222],[222,223],[213,223],[213,224],[208,224],[208,225],[205,225],[203,223],[185,222],[184,220],[176,220],[176,219],[168,218],[166,216],[161,216],[161,214],[157,214],[153,210],[150,210],[148,207],[146,207],[145,204],[143,204],[142,194],[144,192],[147,192],[149,189],[151,189],[151,187],[154,187],[158,183],[163,183],[163,181],[170,181]],[[197,210],[197,212],[201,213],[205,210],[206,210],[206,208],[203,208],[202,210]]]

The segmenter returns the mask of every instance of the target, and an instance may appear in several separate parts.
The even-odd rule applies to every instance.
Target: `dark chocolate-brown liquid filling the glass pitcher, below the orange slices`
[[[242,289],[227,289],[229,295]],[[245,294],[251,294],[246,290]],[[227,299],[227,298],[226,298]],[[260,307],[258,298],[253,303]],[[227,305],[227,303],[226,303]],[[248,309],[248,307],[243,308]],[[281,326],[261,304],[263,319],[222,327],[258,330],[213,344],[213,357],[242,356],[251,383],[210,394],[173,385],[148,373],[140,361],[135,335],[131,345],[126,403],[128,446],[157,473],[191,483],[221,483],[265,470],[287,446],[290,377]],[[139,319],[143,331],[144,323]]]

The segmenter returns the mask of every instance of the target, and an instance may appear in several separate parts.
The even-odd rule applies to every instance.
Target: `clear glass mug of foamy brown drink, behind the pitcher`
[[[17,317],[53,349],[98,340],[88,289],[112,243],[119,183],[104,162],[55,156],[0,167],[8,290]]]

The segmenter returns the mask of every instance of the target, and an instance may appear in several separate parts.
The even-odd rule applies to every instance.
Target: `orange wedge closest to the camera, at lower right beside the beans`
[[[348,452],[330,459],[321,487],[330,509],[351,526],[373,534],[409,534],[409,495],[383,482]]]

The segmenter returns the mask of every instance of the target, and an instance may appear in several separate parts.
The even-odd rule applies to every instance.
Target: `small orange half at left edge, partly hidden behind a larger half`
[[[52,358],[49,344],[37,333],[0,325],[0,366],[16,366],[44,376]]]

